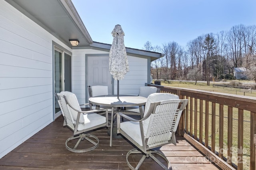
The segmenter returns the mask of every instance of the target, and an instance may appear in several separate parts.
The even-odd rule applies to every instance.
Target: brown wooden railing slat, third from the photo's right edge
[[[228,106],[228,164],[232,165],[233,107]]]

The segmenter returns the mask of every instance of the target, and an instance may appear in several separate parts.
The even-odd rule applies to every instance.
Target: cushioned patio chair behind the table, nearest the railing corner
[[[148,96],[150,94],[152,94],[152,93],[159,93],[159,92],[160,92],[160,88],[156,88],[156,87],[153,87],[153,86],[141,86],[138,96],[142,96],[144,98],[148,98]],[[126,109],[126,111],[128,111],[126,114],[140,115],[140,109],[139,109],[138,106],[126,107],[125,109]]]

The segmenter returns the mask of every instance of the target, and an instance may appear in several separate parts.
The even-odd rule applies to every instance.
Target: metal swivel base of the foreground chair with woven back
[[[128,156],[130,154],[143,154],[142,158],[140,159],[140,162],[138,162],[136,168],[134,168],[130,162],[128,161]],[[166,167],[164,164],[162,164],[162,162],[160,162],[153,154],[158,154],[159,156],[161,156],[162,158],[164,158],[164,160],[166,160],[168,167]],[[171,168],[171,163],[170,161],[166,158],[166,156],[164,154],[162,154],[161,152],[158,152],[156,150],[148,150],[147,153],[145,154],[144,152],[138,150],[138,149],[132,149],[130,150],[127,154],[126,154],[126,162],[129,166],[129,168],[131,170],[138,170],[140,168],[140,166],[142,165],[142,163],[144,162],[144,160],[146,158],[152,158],[154,161],[156,161],[156,163],[158,163],[164,170],[170,170]]]

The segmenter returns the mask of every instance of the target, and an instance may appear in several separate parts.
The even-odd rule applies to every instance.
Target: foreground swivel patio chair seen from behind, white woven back
[[[117,133],[122,134],[137,148],[128,151],[126,162],[130,169],[138,170],[145,158],[151,157],[165,170],[170,169],[170,161],[157,147],[172,143],[176,145],[175,132],[180,121],[187,99],[177,99],[178,96],[167,93],[154,93],[148,96],[144,117],[140,120],[133,119],[123,113],[117,113]],[[120,123],[120,116],[129,121]],[[129,160],[130,154],[142,154],[142,158],[134,168]],[[161,156],[167,162],[166,166],[154,154]]]

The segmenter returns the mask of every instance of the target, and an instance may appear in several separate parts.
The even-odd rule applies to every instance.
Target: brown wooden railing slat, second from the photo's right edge
[[[243,169],[243,145],[244,145],[244,110],[238,109],[238,155],[237,169]]]

